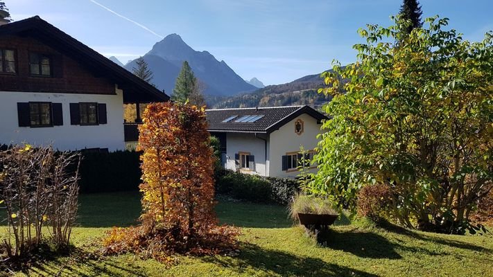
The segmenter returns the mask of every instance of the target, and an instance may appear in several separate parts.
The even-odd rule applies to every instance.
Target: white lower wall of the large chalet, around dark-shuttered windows
[[[63,125],[53,127],[19,127],[17,102],[62,103]],[[105,103],[107,124],[94,126],[70,125],[71,102]],[[76,93],[31,93],[0,91],[0,144],[22,143],[32,145],[53,144],[58,150],[108,148],[124,150],[123,91],[116,95]]]

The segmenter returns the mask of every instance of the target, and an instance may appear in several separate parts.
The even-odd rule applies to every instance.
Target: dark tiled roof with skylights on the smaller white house
[[[209,132],[271,133],[301,114],[317,120],[327,119],[309,106],[257,107],[243,109],[206,109]],[[263,116],[254,122],[235,122],[242,116]],[[232,120],[223,122],[235,116]]]

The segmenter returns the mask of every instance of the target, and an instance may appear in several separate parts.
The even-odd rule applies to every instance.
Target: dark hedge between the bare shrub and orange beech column
[[[140,154],[135,151],[83,152],[80,163],[81,193],[139,190]]]

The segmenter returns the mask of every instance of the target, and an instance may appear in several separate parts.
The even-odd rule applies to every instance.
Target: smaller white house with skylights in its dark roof
[[[220,141],[223,166],[268,177],[296,177],[300,147],[306,159],[313,158],[327,119],[309,106],[207,109],[206,115],[209,132]]]

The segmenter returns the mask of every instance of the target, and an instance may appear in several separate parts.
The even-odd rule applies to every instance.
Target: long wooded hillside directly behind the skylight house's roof
[[[286,84],[276,84],[237,96],[206,98],[207,105],[216,109],[236,107],[273,107],[311,105],[320,107],[331,100],[318,93],[324,87],[320,74],[306,75]]]

